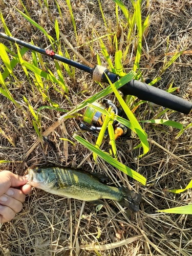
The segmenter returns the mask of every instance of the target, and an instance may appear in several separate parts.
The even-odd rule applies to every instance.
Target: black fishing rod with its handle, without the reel
[[[41,49],[37,46],[28,44],[25,41],[8,36],[2,32],[0,32],[0,37],[12,42],[16,42],[18,45],[21,45],[31,50],[34,50],[36,52],[45,54],[49,57],[52,57],[53,59],[59,60],[61,62],[67,63],[70,66],[73,66],[75,68],[88,72],[91,74],[93,80],[97,82],[109,83],[108,79],[106,78],[106,75],[108,76],[108,78],[112,83],[114,83],[120,78],[117,74],[109,71],[108,69],[102,66],[97,65],[94,68],[90,68],[74,60],[58,55],[54,53],[52,50]],[[122,86],[118,90],[121,91],[124,96],[133,95],[138,97],[141,100],[151,101],[155,104],[164,106],[165,108],[172,109],[186,115],[191,113],[191,110],[192,110],[191,102],[185,99],[182,99],[176,95],[170,94],[166,91],[163,91],[161,89],[158,89],[156,87],[149,86],[147,83],[143,83],[138,80],[131,80],[126,84],[124,84],[124,86]]]

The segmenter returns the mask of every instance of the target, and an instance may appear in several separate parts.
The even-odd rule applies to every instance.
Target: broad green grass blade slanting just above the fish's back
[[[143,185],[146,184],[146,179],[142,175],[140,175],[137,172],[135,172],[135,170],[133,170],[133,169],[129,168],[128,166],[120,163],[119,161],[117,161],[116,159],[114,159],[113,157],[108,155],[107,153],[101,151],[99,148],[97,148],[96,146],[92,145],[90,142],[84,140],[83,138],[81,138],[77,134],[74,134],[73,138],[76,139],[82,145],[84,145],[87,148],[89,148],[90,151],[96,153],[99,157],[104,159],[109,164],[111,164],[111,165],[115,166],[116,168],[120,169],[123,173],[129,175],[130,177],[132,177],[133,179],[139,181]]]

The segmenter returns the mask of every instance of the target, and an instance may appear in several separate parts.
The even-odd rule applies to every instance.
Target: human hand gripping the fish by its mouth
[[[12,220],[22,210],[22,202],[31,192],[27,182],[27,177],[15,175],[8,170],[0,172],[0,223]],[[20,189],[15,188],[20,186]]]

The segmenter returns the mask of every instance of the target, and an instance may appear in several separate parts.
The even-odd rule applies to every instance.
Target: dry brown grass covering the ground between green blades
[[[58,18],[60,31],[66,36],[67,40],[76,47],[76,39],[70,14],[65,1],[58,1],[63,19],[59,17],[55,2],[49,2],[50,13],[46,8],[40,9],[38,1],[24,1],[31,17],[47,32],[55,37],[54,27],[51,18]],[[94,1],[71,1],[73,12],[79,34],[79,45],[84,44],[87,38],[92,38],[92,26],[99,35],[107,33],[102,22],[102,16],[96,0]],[[124,1],[128,6],[127,1]],[[1,0],[0,7],[6,24],[12,35],[30,41],[41,48],[49,46],[49,42],[30,25],[15,9],[23,10],[19,1]],[[102,1],[105,18],[110,24],[114,23],[115,12],[114,3],[111,0]],[[145,6],[145,2],[143,3]],[[166,42],[169,36],[168,52],[173,53],[177,50],[191,49],[192,31],[192,1],[189,0],[150,0],[147,9],[143,10],[143,17],[150,11],[150,27],[143,40],[143,51],[140,67],[143,77],[155,78],[162,77],[159,86],[162,89],[174,80],[174,86],[180,87],[179,96],[191,101],[191,56],[183,54],[174,65],[161,74],[166,53]],[[112,26],[112,30],[115,27]],[[86,38],[87,37],[87,38]],[[62,41],[62,39],[61,39]],[[63,41],[62,41],[63,42]],[[104,40],[108,46],[108,40]],[[4,41],[9,47],[9,42]],[[66,45],[73,57],[74,53]],[[93,52],[88,45],[75,48],[84,59],[92,65],[96,64],[95,53],[100,54],[99,42],[94,42]],[[114,60],[113,49],[108,50]],[[133,67],[134,57],[130,51],[127,56],[125,66],[128,72]],[[101,54],[100,54],[101,56]],[[167,59],[170,57],[167,56]],[[26,59],[31,59],[31,54],[26,54]],[[48,63],[50,60],[44,58]],[[79,58],[77,57],[77,60]],[[104,59],[103,65],[106,65]],[[1,61],[1,60],[0,60]],[[50,69],[55,70],[53,61],[50,61]],[[2,69],[2,68],[1,68]],[[11,84],[14,98],[23,101],[22,95],[27,95],[30,103],[37,109],[45,102],[41,102],[39,95],[33,97],[31,87],[20,72],[19,66],[14,70],[22,84]],[[66,82],[69,86],[69,97],[75,105],[86,97],[99,90],[99,87],[92,83],[89,75],[76,70],[75,79],[63,71]],[[87,92],[81,93],[86,89]],[[113,98],[113,96],[111,96]],[[61,98],[55,91],[51,95],[52,100],[60,105],[60,108],[70,109],[66,98]],[[13,173],[24,175],[27,167],[32,164],[40,163],[59,164],[76,166],[90,170],[98,170],[108,174],[112,181],[117,185],[133,187],[143,194],[145,202],[141,204],[138,214],[124,212],[118,205],[110,202],[96,212],[94,206],[74,199],[63,199],[42,190],[34,189],[24,203],[24,209],[16,215],[14,220],[9,223],[0,224],[0,255],[96,255],[94,248],[100,250],[101,255],[168,255],[168,256],[189,256],[192,255],[191,243],[191,216],[174,214],[158,214],[157,209],[171,208],[186,205],[191,202],[191,191],[174,195],[168,193],[167,189],[184,188],[191,179],[191,158],[192,158],[192,138],[191,128],[186,130],[182,136],[175,139],[178,130],[170,129],[165,126],[155,126],[144,124],[144,129],[148,134],[150,152],[142,159],[135,160],[138,152],[133,147],[138,140],[127,141],[119,139],[117,150],[119,160],[139,171],[147,178],[147,186],[141,186],[133,180],[120,173],[119,170],[109,166],[104,161],[99,160],[97,164],[92,159],[92,154],[76,143],[73,146],[67,143],[63,146],[60,137],[72,139],[72,134],[78,130],[78,120],[70,119],[61,124],[49,138],[56,142],[57,151],[46,145],[42,147],[37,144],[33,151],[30,148],[37,141],[37,136],[32,128],[29,119],[19,116],[15,106],[0,94],[1,100],[1,119],[0,126],[6,134],[15,142],[16,147],[11,146],[8,140],[0,134],[0,158],[12,161],[11,164],[2,164],[1,169],[9,169]],[[24,106],[25,108],[25,106]],[[27,111],[27,110],[26,110]],[[142,106],[135,114],[138,119],[151,119],[160,112],[158,109],[150,110],[148,105]],[[27,113],[30,117],[30,113]],[[180,113],[166,114],[163,118],[168,118],[181,122],[186,126],[191,122],[191,115],[185,116]],[[42,128],[45,131],[54,123],[60,113],[50,110],[42,111]],[[66,132],[67,131],[67,132]],[[85,134],[85,138],[95,142],[94,137]],[[102,145],[102,150],[108,150],[108,144]],[[67,151],[66,151],[67,150]],[[30,153],[30,154],[29,154]],[[67,153],[67,154],[66,154]]]

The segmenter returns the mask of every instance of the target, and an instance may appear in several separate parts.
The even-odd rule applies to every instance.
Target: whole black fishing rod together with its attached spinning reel
[[[84,72],[88,72],[91,74],[92,79],[97,82],[109,84],[107,77],[112,83],[116,82],[120,78],[118,74],[111,72],[110,70],[106,69],[103,66],[96,65],[94,68],[90,68],[86,65],[82,65],[79,62],[76,62],[74,60],[58,55],[53,50],[45,50],[45,49],[39,48],[37,46],[29,44],[28,42],[19,40],[18,38],[8,36],[5,33],[0,32],[0,37],[9,41],[15,42],[16,44],[24,46],[33,51],[47,55],[53,59],[67,63],[68,65],[73,66],[77,69],[80,69]],[[155,104],[164,106],[165,108],[172,109],[186,115],[190,114],[192,111],[192,103],[190,101],[187,101],[176,95],[170,94],[159,88],[149,86],[147,83],[140,82],[138,80],[131,80],[126,84],[124,84],[124,86],[122,86],[118,90],[123,93],[123,96],[133,95],[138,97],[140,100],[151,101]],[[102,104],[98,104],[98,106],[103,109],[106,109],[111,105],[115,110],[114,111],[115,114],[120,116],[124,115],[122,110],[116,108],[116,106],[114,106],[114,104],[110,100],[104,99],[102,103],[104,103],[105,106],[103,106]],[[81,123],[80,124],[81,129],[91,131],[93,133],[100,131],[103,120],[104,120],[104,116],[100,112],[95,111],[94,109],[89,107],[86,110],[83,118],[84,118],[84,121],[91,124],[91,127],[88,127],[84,123]],[[124,135],[128,137],[130,136],[129,130],[127,131],[127,127],[125,127],[124,125],[121,125],[120,123],[114,123],[114,127],[116,129],[116,133],[115,133],[116,138]]]

